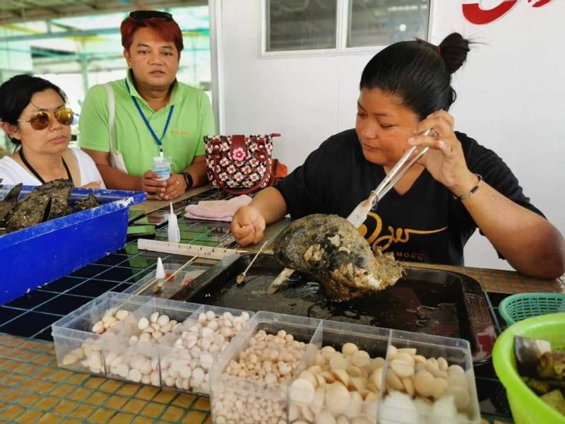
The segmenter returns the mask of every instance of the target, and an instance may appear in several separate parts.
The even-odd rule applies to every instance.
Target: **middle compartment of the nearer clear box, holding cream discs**
[[[289,423],[376,423],[390,330],[322,321],[289,388]],[[374,381],[376,379],[376,381]]]

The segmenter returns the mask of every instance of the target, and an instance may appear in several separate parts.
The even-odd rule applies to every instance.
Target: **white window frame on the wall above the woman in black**
[[[335,48],[333,49],[307,49],[307,50],[285,50],[281,52],[267,51],[267,1],[261,0],[261,40],[259,42],[259,57],[263,59],[292,58],[292,57],[326,57],[341,56],[347,54],[374,53],[386,47],[386,45],[374,45],[363,47],[347,47],[347,30],[350,21],[351,0],[335,0],[337,3],[337,16],[335,16]],[[436,0],[429,0],[428,28],[425,40],[430,39],[432,33],[432,20],[434,16],[434,4]]]

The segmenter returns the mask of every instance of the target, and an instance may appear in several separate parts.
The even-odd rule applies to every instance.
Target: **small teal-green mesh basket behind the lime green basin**
[[[537,315],[565,312],[565,293],[523,293],[500,302],[499,312],[507,325]]]

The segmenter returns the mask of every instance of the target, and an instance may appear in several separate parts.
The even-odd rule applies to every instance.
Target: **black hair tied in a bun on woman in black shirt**
[[[439,46],[424,40],[397,42],[369,61],[359,89],[380,88],[398,95],[424,119],[436,110],[448,110],[455,101],[451,73],[463,65],[468,52],[468,40],[458,33],[448,35]]]

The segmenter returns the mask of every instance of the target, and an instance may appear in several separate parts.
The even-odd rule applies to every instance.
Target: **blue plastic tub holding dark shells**
[[[23,187],[20,199],[33,188]],[[10,189],[0,188],[0,199]],[[71,201],[89,192],[100,206],[0,235],[0,305],[124,246],[129,206],[145,201],[146,194],[73,189]]]

